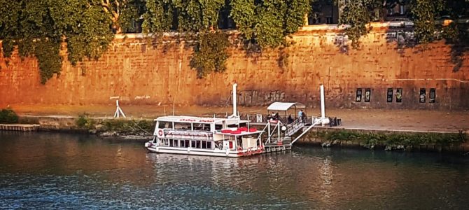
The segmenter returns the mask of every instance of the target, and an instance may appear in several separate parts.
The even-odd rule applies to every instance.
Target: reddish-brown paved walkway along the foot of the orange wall
[[[4,106],[3,106],[4,107]],[[109,106],[37,106],[12,105],[11,108],[20,115],[30,116],[78,116],[87,113],[92,117],[112,117],[116,107]],[[156,118],[172,114],[172,106],[121,105],[121,108],[132,118]],[[267,114],[267,106],[239,107],[240,113]],[[232,108],[207,106],[175,106],[176,115],[219,116],[230,114]],[[280,113],[282,115],[282,113]],[[307,109],[307,116],[319,116],[319,109]],[[402,130],[402,131],[439,131],[469,133],[469,111],[426,111],[426,110],[377,110],[377,109],[327,109],[326,116],[342,118],[346,128],[367,130]]]

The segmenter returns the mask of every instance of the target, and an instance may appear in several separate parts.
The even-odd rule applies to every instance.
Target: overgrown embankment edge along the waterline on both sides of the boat
[[[92,132],[101,136],[151,137],[153,119],[113,119],[73,116],[20,116],[20,123],[38,124],[41,131]],[[376,130],[315,127],[297,144],[323,147],[356,147],[388,151],[438,151],[468,153],[466,132]]]

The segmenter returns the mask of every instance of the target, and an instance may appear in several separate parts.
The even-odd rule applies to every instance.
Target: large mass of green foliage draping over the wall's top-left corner
[[[102,6],[80,0],[0,0],[0,39],[3,56],[15,45],[21,57],[36,56],[41,83],[59,75],[62,41],[72,64],[106,51],[113,33]],[[65,38],[65,39],[64,39]]]

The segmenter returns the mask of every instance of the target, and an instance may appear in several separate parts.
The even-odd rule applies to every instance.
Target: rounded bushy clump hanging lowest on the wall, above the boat
[[[225,62],[228,59],[226,48],[230,44],[228,36],[221,31],[202,32],[198,36],[199,41],[192,59],[193,66],[197,69],[197,76],[202,78],[212,71],[225,71]]]

